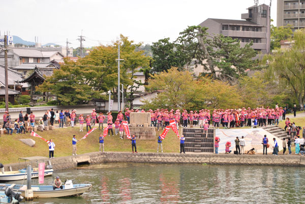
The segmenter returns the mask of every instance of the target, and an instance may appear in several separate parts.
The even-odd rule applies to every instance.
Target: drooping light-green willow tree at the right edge
[[[279,86],[288,89],[298,104],[305,102],[305,30],[294,32],[294,44],[291,49],[280,50],[266,55],[263,63],[267,63],[266,77]]]

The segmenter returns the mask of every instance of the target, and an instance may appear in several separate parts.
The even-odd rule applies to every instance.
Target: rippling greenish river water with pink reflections
[[[110,163],[56,176],[93,188],[82,196],[25,203],[305,203],[301,167]],[[46,177],[45,185],[52,181]]]

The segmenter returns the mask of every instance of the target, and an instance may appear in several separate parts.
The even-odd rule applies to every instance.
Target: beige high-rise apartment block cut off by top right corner
[[[277,26],[287,24],[292,31],[305,27],[305,0],[278,0]]]

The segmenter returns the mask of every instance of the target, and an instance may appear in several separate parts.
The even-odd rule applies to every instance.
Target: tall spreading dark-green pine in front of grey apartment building
[[[210,71],[213,79],[232,81],[251,69],[255,65],[252,60],[256,52],[251,48],[253,43],[240,47],[237,39],[223,35],[210,36],[206,27],[189,26],[180,32],[177,39],[187,53],[187,61],[195,60]],[[217,74],[216,67],[220,69]]]

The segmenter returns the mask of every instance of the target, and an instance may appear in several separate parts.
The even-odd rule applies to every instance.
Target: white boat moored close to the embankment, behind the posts
[[[45,169],[44,176],[51,176],[53,169]],[[26,179],[26,173],[20,173],[19,171],[0,173],[0,181],[17,181]],[[32,178],[38,178],[38,172],[32,172]]]

